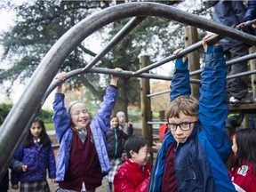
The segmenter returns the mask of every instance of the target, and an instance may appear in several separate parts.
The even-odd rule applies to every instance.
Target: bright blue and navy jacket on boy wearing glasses
[[[182,68],[181,64],[182,59],[176,61],[171,100],[181,95],[190,95],[188,69]],[[228,159],[230,144],[225,134],[225,119],[228,115],[225,104],[226,62],[220,46],[208,46],[201,84],[200,122],[195,124],[188,140],[180,143],[175,153],[174,169],[178,190],[236,191],[223,163]],[[148,191],[161,191],[165,156],[173,142],[175,140],[169,131],[164,135],[163,144],[157,154]]]

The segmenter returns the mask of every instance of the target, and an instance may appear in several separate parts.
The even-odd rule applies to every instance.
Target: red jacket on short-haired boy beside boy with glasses
[[[147,192],[150,172],[150,164],[141,167],[140,164],[132,163],[126,158],[116,172],[114,191]]]

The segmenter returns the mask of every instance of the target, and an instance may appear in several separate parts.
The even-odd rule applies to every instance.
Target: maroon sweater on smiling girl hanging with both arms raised
[[[59,183],[60,188],[81,191],[84,182],[85,188],[91,190],[101,185],[102,173],[96,148],[92,143],[92,132],[87,127],[87,138],[84,142],[74,132],[68,172],[65,180]]]

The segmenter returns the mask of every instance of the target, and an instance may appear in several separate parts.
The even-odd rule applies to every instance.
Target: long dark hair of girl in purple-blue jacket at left
[[[32,124],[38,123],[42,127],[42,132],[40,135],[40,144],[43,144],[43,146],[51,145],[51,140],[46,132],[45,126],[44,126],[44,121],[38,117],[35,118]],[[31,124],[31,125],[32,125]],[[24,148],[30,148],[32,147],[32,142],[33,141],[33,135],[30,132],[30,128],[28,130],[28,136],[23,142],[23,147]]]

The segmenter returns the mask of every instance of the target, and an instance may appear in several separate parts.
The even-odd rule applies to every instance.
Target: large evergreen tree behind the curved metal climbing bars
[[[124,1],[116,1],[122,4]],[[180,1],[163,1],[164,4],[176,4]],[[52,45],[69,28],[72,28],[79,20],[99,12],[112,4],[111,1],[35,1],[22,5],[9,4],[10,9],[17,12],[17,21],[12,30],[1,35],[4,45],[3,59],[9,64],[0,76],[0,84],[4,81],[14,82],[17,79],[20,83],[33,74],[40,60]],[[203,11],[202,11],[203,10]],[[205,11],[206,10],[206,11]],[[206,6],[201,6],[200,14],[207,12]],[[118,20],[106,28],[102,28],[96,36],[103,41],[109,40],[128,21]],[[164,20],[156,17],[148,17],[129,36],[118,44],[104,60],[98,64],[99,67],[115,68],[121,67],[124,70],[135,71],[139,69],[138,56],[140,53],[151,55],[152,62],[169,55],[174,49],[183,43],[183,28],[180,23]],[[109,31],[109,33],[107,32]],[[101,33],[101,34],[100,34]],[[107,38],[105,38],[107,37]],[[180,38],[181,37],[181,38]],[[173,46],[172,44],[175,44]],[[94,52],[88,52],[88,44],[83,42],[64,61],[61,71],[71,71],[75,68],[84,68],[88,54],[93,56]],[[90,47],[89,47],[90,48]],[[85,62],[85,63],[84,63]],[[154,70],[152,70],[154,73]],[[95,100],[102,100],[105,86],[101,86],[102,78],[97,74],[87,74],[68,81],[71,84],[70,90],[79,88],[82,84],[86,91],[92,92]],[[108,80],[103,80],[108,82]],[[120,82],[120,90],[115,110],[127,112],[128,104],[140,105],[139,80],[136,78],[124,77]],[[126,113],[127,114],[127,113]]]

